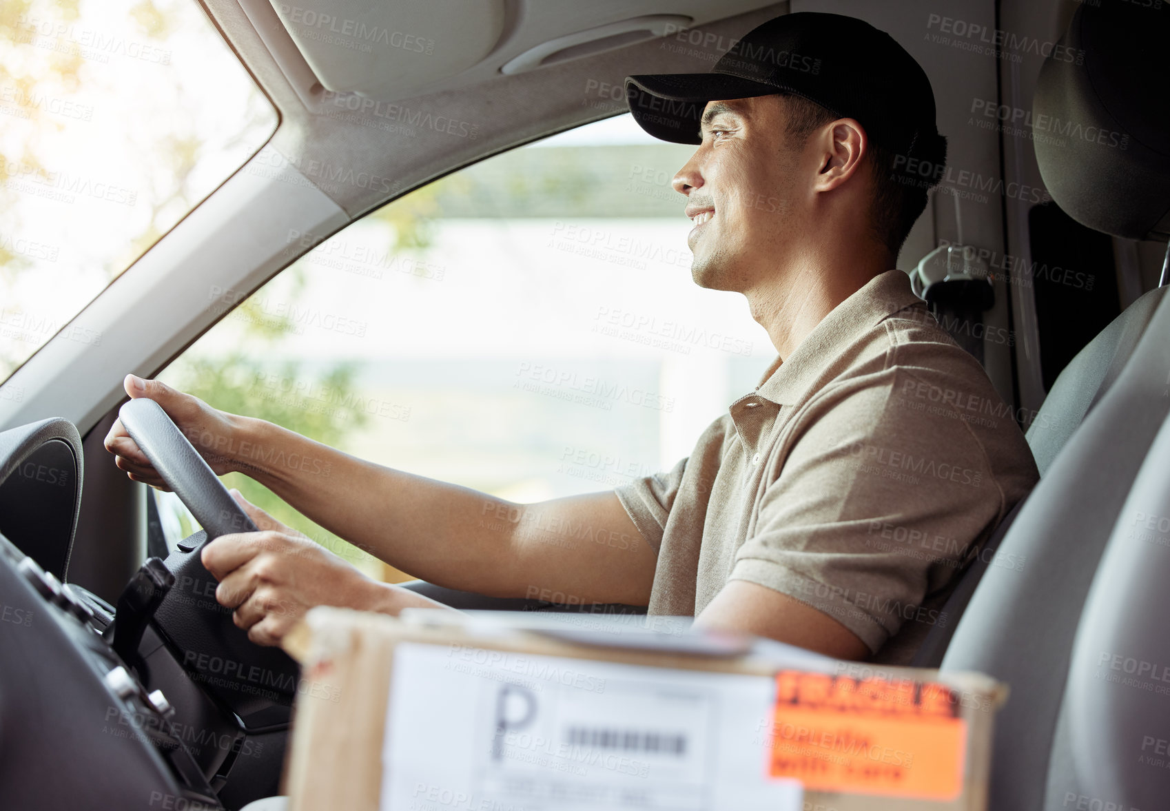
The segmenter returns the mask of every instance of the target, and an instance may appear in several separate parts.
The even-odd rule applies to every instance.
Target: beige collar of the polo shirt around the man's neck
[[[764,372],[756,394],[776,404],[793,405],[825,370],[862,334],[888,316],[925,304],[910,289],[910,277],[902,270],[887,270],[870,279],[838,304],[817,324],[789,356],[777,357]]]

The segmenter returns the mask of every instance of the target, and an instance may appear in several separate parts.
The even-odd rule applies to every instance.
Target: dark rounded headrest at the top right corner
[[[1170,238],[1170,4],[1079,4],[1040,69],[1032,138],[1040,176],[1078,222]]]

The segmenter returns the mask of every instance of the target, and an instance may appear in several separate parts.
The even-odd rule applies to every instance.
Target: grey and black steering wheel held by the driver
[[[158,403],[132,399],[119,408],[118,417],[204,528],[180,542],[164,562],[174,575],[174,585],[151,624],[187,675],[246,727],[285,723],[300,680],[296,662],[280,648],[261,647],[248,639],[232,620],[230,609],[215,602],[218,582],[200,559],[202,548],[215,538],[254,532],[256,525]]]

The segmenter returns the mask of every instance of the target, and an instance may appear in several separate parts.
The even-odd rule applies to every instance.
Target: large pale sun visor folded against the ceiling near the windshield
[[[273,8],[326,90],[407,97],[491,53],[503,0],[273,0]]]

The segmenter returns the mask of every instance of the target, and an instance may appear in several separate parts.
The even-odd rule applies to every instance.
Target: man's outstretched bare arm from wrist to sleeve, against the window
[[[654,555],[612,494],[519,506],[241,419],[233,467],[415,577],[496,597],[648,598]],[[598,541],[600,538],[600,541]]]

